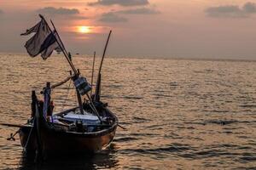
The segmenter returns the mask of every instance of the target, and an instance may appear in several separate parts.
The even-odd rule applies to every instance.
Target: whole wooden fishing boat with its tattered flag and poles
[[[97,152],[108,146],[113,141],[117,127],[118,118],[108,109],[108,104],[101,101],[101,80],[102,63],[108,47],[108,41],[102,54],[102,61],[97,75],[95,94],[92,94],[93,71],[91,84],[85,77],[81,76],[79,69],[73,65],[71,56],[67,53],[53,22],[50,20],[54,31],[52,31],[44,20],[44,16],[39,15],[41,21],[27,30],[22,35],[32,32],[36,34],[26,42],[28,54],[32,57],[41,54],[43,59],[47,59],[54,49],[61,51],[72,71],[62,82],[51,85],[46,82],[41,94],[44,99],[38,99],[37,92],[32,91],[31,117],[24,125],[14,125],[1,123],[2,125],[19,127],[15,133],[20,135],[20,144],[24,150],[37,152],[44,156],[48,153],[63,152]],[[42,32],[43,31],[43,32]],[[48,32],[45,32],[48,31]],[[39,37],[39,38],[38,38]],[[42,41],[43,40],[43,41]],[[38,48],[38,46],[40,46]],[[60,50],[61,49],[61,50]],[[38,50],[38,51],[37,51]],[[93,61],[93,70],[95,55]],[[55,113],[51,93],[62,84],[72,81],[76,89],[78,106],[71,109]],[[84,101],[82,102],[82,97]],[[14,139],[15,134],[11,134],[9,139]]]

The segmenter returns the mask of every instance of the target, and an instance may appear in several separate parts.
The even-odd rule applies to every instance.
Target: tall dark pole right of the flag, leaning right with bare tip
[[[108,40],[105,44],[105,48],[104,48],[104,52],[102,54],[102,61],[101,61],[101,65],[100,65],[100,68],[99,68],[99,72],[98,72],[98,77],[97,77],[97,82],[96,82],[96,92],[95,92],[95,101],[99,101],[100,100],[100,93],[101,93],[101,79],[102,79],[102,75],[101,75],[101,71],[102,71],[102,64],[103,64],[103,60],[105,58],[105,54],[106,54],[106,51],[107,51],[107,48],[108,48],[108,42],[109,42],[109,38],[111,36],[111,33],[112,33],[112,30],[109,31],[109,34],[108,34]]]

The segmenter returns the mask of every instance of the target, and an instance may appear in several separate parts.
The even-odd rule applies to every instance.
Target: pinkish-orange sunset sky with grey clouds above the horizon
[[[122,57],[256,59],[256,0],[0,0],[0,52],[43,14],[68,51]]]

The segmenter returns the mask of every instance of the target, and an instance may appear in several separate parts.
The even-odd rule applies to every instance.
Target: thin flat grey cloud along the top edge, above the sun
[[[120,5],[120,6],[140,6],[140,5],[148,5],[148,0],[98,0],[95,3],[88,3],[90,6],[94,5]]]

